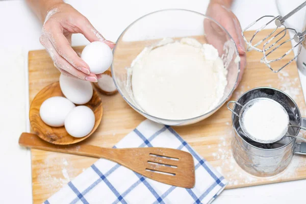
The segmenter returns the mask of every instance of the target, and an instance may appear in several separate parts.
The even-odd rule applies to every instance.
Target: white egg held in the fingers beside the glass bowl
[[[99,74],[105,72],[111,66],[113,53],[107,44],[95,41],[86,45],[81,58],[88,64],[90,72]]]

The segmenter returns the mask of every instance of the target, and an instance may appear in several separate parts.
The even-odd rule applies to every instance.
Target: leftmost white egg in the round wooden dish
[[[47,125],[60,127],[64,125],[65,118],[74,107],[75,105],[67,98],[54,96],[43,101],[39,115]]]

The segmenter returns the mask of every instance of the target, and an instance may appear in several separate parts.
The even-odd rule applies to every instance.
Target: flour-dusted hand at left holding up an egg
[[[28,2],[44,22],[40,42],[60,72],[69,77],[97,82],[100,75],[91,73],[86,62],[74,52],[71,36],[73,33],[82,33],[90,42],[101,41],[110,48],[113,48],[115,43],[106,40],[85,16],[69,4],[54,0]],[[44,10],[47,12],[44,13]]]

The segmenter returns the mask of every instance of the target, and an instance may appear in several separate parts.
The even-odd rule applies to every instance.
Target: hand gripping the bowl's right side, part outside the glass
[[[218,21],[234,39],[240,55],[240,75],[238,80],[240,82],[246,65],[246,51],[241,35],[241,26],[235,14],[230,10],[231,4],[231,0],[212,0],[206,14]]]

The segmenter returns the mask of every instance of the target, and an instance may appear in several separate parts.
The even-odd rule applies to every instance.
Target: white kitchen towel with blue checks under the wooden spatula
[[[174,187],[148,179],[114,162],[99,159],[44,203],[210,203],[227,181],[170,126],[145,120],[114,148],[169,147],[190,152],[195,186]]]

